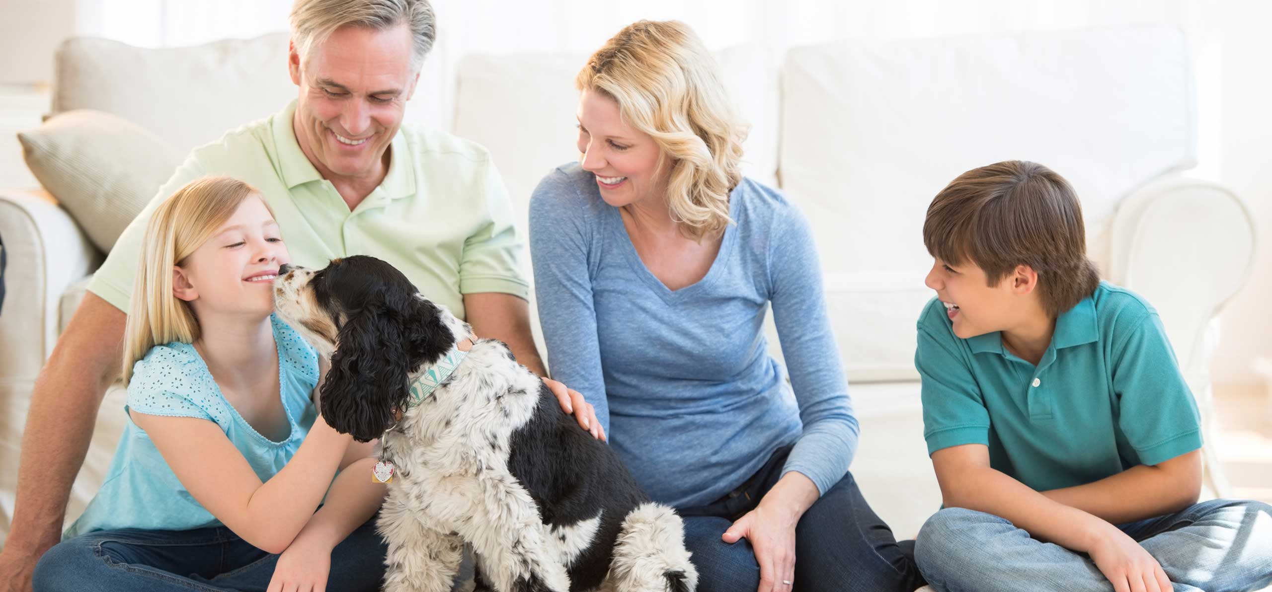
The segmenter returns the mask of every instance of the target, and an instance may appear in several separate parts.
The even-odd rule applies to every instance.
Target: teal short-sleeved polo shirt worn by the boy
[[[1037,367],[1000,333],[954,335],[932,300],[918,319],[927,452],[979,443],[1034,490],[1082,485],[1201,448],[1201,419],[1158,313],[1100,282],[1056,319]]]

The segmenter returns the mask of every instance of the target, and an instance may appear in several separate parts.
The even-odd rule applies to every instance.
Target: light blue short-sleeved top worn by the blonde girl
[[[215,422],[243,454],[262,481],[268,480],[296,454],[309,433],[317,410],[310,393],[318,384],[318,354],[300,335],[271,315],[279,349],[277,396],[287,414],[291,434],[275,442],[247,423],[225,400],[207,365],[190,343],[155,346],[132,366],[128,409],[169,417]],[[177,479],[150,436],[128,418],[102,489],[62,539],[117,528],[191,530],[221,526]]]

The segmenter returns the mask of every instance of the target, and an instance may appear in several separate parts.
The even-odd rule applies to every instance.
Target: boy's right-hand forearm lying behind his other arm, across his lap
[[[1178,512],[1201,497],[1201,451],[1155,466],[1138,465],[1094,483],[1043,492],[1107,522],[1122,525]]]

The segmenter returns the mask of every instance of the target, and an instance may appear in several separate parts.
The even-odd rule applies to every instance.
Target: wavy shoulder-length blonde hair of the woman
[[[669,156],[668,205],[684,234],[724,231],[747,126],[693,29],[678,20],[632,23],[588,58],[575,86],[614,99],[623,121]]]

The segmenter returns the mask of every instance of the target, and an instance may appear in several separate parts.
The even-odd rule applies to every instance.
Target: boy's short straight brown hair
[[[1038,273],[1052,316],[1095,292],[1099,272],[1086,258],[1082,206],[1056,172],[1024,160],[968,170],[927,206],[923,245],[953,267],[968,260],[996,286],[1016,266]]]

